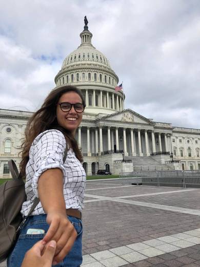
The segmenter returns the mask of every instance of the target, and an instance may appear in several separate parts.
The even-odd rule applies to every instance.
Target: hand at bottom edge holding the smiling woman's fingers
[[[43,244],[43,241],[38,241],[27,251],[21,267],[51,267],[55,254],[56,242],[50,241],[48,244]]]

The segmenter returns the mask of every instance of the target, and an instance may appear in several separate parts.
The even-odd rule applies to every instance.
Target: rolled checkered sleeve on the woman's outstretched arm
[[[59,168],[64,173],[63,157],[66,149],[66,140],[61,131],[47,130],[33,141],[31,157],[33,158],[34,176],[32,188],[38,197],[37,183],[39,177],[47,169]]]

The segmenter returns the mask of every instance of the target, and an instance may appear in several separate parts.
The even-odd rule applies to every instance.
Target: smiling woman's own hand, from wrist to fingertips
[[[68,220],[66,212],[50,212],[47,215],[50,225],[43,241],[55,240],[57,243],[53,264],[61,262],[71,250],[77,237],[73,224]]]

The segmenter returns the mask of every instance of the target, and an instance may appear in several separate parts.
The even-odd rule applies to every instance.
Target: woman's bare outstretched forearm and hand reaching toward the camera
[[[54,264],[62,261],[77,237],[76,230],[67,219],[63,196],[63,173],[59,168],[46,170],[38,180],[38,195],[50,225],[43,241],[57,243]]]

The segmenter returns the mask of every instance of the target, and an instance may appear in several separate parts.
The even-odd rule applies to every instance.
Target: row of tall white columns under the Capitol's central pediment
[[[126,127],[104,126],[107,140],[103,140],[103,127],[78,127],[78,146],[82,147],[82,128],[87,128],[87,156],[102,155],[103,152],[119,151],[119,141],[122,142],[121,149],[124,156],[150,156],[156,152],[172,152],[171,134],[166,132],[156,132],[156,130],[133,129]],[[119,137],[119,128],[122,135]],[[130,149],[127,149],[127,138],[130,139]],[[120,139],[120,140],[119,140]],[[142,141],[143,140],[143,141]],[[163,142],[162,142],[163,140]],[[86,140],[85,140],[86,141]],[[107,147],[103,149],[103,142]],[[144,143],[142,145],[142,143]],[[137,145],[136,145],[137,144]],[[92,147],[91,147],[92,146]],[[104,146],[105,147],[105,146]],[[131,152],[130,152],[131,151]],[[122,152],[122,151],[121,151]],[[86,154],[86,153],[84,153]],[[85,155],[86,156],[86,155]]]

